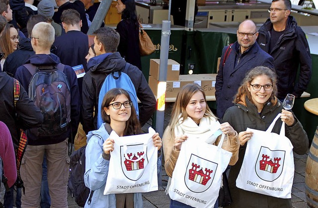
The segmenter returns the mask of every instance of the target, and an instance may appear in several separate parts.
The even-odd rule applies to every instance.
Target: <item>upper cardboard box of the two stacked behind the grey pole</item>
[[[159,79],[159,66],[160,59],[150,59],[150,71],[149,75]],[[176,81],[179,80],[180,74],[180,64],[172,59],[168,59],[168,67],[167,67],[167,80],[168,81]]]

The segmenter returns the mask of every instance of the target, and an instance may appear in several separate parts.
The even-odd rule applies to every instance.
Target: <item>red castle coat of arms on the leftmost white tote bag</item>
[[[134,144],[120,146],[121,168],[124,175],[132,180],[139,180],[147,167],[147,145]]]

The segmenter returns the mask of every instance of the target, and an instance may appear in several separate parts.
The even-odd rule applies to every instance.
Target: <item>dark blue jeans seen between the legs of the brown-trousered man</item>
[[[43,163],[42,163],[42,182],[41,182],[41,208],[50,208],[51,207],[51,198],[49,193],[49,184],[48,184],[48,167],[46,164],[46,155],[44,153]]]

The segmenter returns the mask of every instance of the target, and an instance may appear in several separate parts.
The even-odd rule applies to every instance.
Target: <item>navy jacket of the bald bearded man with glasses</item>
[[[223,49],[221,64],[215,83],[215,97],[217,102],[217,116],[222,118],[224,112],[233,106],[234,96],[237,94],[240,84],[247,72],[257,66],[274,68],[274,59],[263,51],[255,42],[249,49],[239,56],[239,43],[235,42],[231,48]],[[228,58],[224,61],[225,52],[228,50]],[[222,64],[224,62],[224,65]]]

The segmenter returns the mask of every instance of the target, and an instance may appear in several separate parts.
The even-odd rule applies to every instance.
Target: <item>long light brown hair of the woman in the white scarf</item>
[[[172,108],[171,119],[170,119],[170,122],[168,124],[170,126],[169,133],[170,133],[171,137],[174,136],[174,127],[177,125],[179,119],[183,118],[183,120],[185,120],[188,117],[188,113],[187,113],[185,108],[188,105],[188,103],[190,102],[192,96],[197,92],[201,92],[203,94],[204,101],[205,101],[205,103],[207,103],[204,90],[198,84],[195,84],[195,83],[187,84],[183,88],[181,88],[180,92],[178,93],[177,98],[176,98],[175,103],[174,103],[173,108]],[[181,114],[181,116],[180,116],[180,114]],[[213,114],[213,112],[209,108],[208,104],[206,105],[206,110],[205,110],[205,113],[203,116],[204,117],[211,117],[212,116],[215,119],[217,119],[217,117]]]

